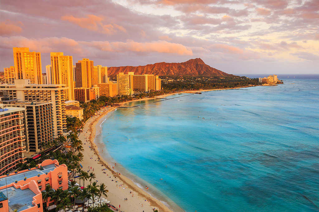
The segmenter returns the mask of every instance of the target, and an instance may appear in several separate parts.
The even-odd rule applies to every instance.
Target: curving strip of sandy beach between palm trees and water
[[[251,86],[246,86],[241,88],[247,88],[247,87],[251,87]],[[143,98],[143,99],[136,99],[136,100],[131,100],[127,102],[122,102],[121,106],[123,106],[124,104],[128,102],[144,101],[144,100],[150,100],[150,99],[156,99],[156,98],[165,98],[169,95],[174,95],[174,94],[181,94],[181,93],[195,94],[196,92],[229,90],[229,89],[237,89],[237,88],[193,90],[193,91],[169,93],[165,95],[155,96],[152,98]],[[151,194],[145,192],[141,187],[138,187],[136,183],[134,183],[131,179],[123,176],[122,174],[116,173],[116,171],[114,171],[114,169],[112,168],[113,166],[115,167],[116,164],[110,165],[110,162],[105,160],[103,156],[100,156],[99,154],[97,145],[104,145],[104,144],[103,143],[96,144],[94,142],[94,139],[95,139],[95,136],[100,134],[101,132],[100,124],[105,119],[102,122],[100,122],[100,120],[103,117],[106,117],[108,113],[112,111],[114,112],[118,107],[121,107],[121,106],[108,107],[108,108],[105,107],[100,110],[101,112],[99,111],[99,114],[94,115],[93,117],[88,119],[88,121],[85,123],[83,132],[80,133],[78,136],[79,140],[82,141],[83,148],[84,148],[84,152],[83,152],[84,160],[82,161],[83,169],[86,171],[87,169],[85,168],[89,167],[90,168],[89,172],[93,172],[96,175],[96,179],[94,180],[97,180],[97,185],[99,185],[100,183],[104,183],[107,186],[107,189],[109,190],[107,194],[108,195],[107,199],[110,201],[109,204],[114,205],[116,208],[119,208],[119,206],[121,205],[121,208],[123,211],[144,211],[144,210],[152,211],[153,208],[156,208],[159,211],[173,212],[173,210],[168,208],[160,200],[152,197]],[[92,147],[92,151],[90,147]],[[99,157],[100,157],[100,161],[98,160]],[[95,171],[93,166],[96,168]],[[102,171],[101,170],[102,168],[105,168],[106,170]],[[88,180],[86,181],[86,185],[87,183],[88,183]],[[123,185],[123,186],[120,186],[120,185]],[[132,192],[132,194],[135,196],[133,196],[130,192]],[[123,198],[127,198],[128,200],[124,201]],[[121,208],[119,209],[121,210]],[[184,211],[182,208],[181,210]]]

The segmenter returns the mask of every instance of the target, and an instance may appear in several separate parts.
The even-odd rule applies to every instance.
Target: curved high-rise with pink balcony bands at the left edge
[[[25,163],[24,108],[0,106],[0,175],[12,172],[20,162]]]

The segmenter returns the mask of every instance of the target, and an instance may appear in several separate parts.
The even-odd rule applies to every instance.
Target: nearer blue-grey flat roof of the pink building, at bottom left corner
[[[15,187],[11,186],[8,188],[8,190],[6,188],[1,190],[1,192],[4,194],[7,194],[7,191],[9,207],[12,210],[17,209],[18,211],[22,211],[33,207],[33,196],[36,194],[34,194],[29,188],[21,190],[20,188],[16,189]]]

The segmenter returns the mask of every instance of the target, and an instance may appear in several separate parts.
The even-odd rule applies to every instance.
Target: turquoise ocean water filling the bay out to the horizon
[[[319,76],[278,77],[130,103],[101,125],[103,157],[174,211],[319,211]]]

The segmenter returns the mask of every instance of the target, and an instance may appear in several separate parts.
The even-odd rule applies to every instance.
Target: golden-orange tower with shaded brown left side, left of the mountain
[[[91,88],[95,83],[94,79],[94,61],[83,58],[75,64],[75,87]]]

